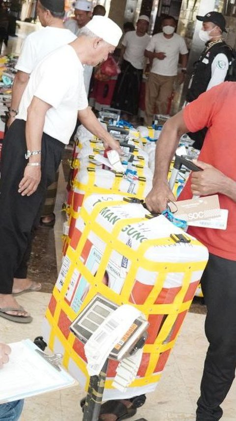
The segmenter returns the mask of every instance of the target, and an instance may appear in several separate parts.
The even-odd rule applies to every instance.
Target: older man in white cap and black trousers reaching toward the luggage
[[[13,278],[28,248],[45,191],[55,179],[77,114],[106,147],[119,151],[118,142],[88,107],[83,64],[95,66],[106,60],[121,35],[121,29],[111,19],[94,16],[79,38],[47,55],[30,74],[1,155],[1,317],[20,323],[32,320],[12,295]],[[65,77],[68,68],[70,75]]]

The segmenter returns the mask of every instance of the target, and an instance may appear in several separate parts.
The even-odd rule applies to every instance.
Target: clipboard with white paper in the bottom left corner
[[[12,350],[9,362],[0,370],[0,404],[76,384],[59,367],[58,354],[44,354],[29,339],[9,346]]]

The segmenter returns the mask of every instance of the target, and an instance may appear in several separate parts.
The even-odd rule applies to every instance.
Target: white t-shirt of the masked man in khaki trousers
[[[162,76],[176,76],[179,54],[188,53],[185,41],[180,35],[174,34],[172,38],[166,38],[163,32],[153,35],[146,49],[166,54],[164,60],[154,58],[151,67],[151,73]]]

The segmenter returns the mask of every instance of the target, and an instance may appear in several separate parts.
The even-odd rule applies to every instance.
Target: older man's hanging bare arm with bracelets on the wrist
[[[50,104],[35,96],[33,97],[28,108],[26,122],[26,144],[28,151],[41,151],[45,115],[50,108]],[[30,156],[29,160],[26,161],[24,177],[19,184],[18,190],[22,196],[30,196],[30,194],[34,193],[41,180],[41,166],[30,166],[27,165],[28,162],[29,164],[40,163],[41,155]]]

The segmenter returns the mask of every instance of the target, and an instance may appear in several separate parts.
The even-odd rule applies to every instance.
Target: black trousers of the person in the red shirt
[[[201,285],[207,305],[209,347],[198,400],[197,421],[218,421],[236,370],[236,261],[209,256]]]

